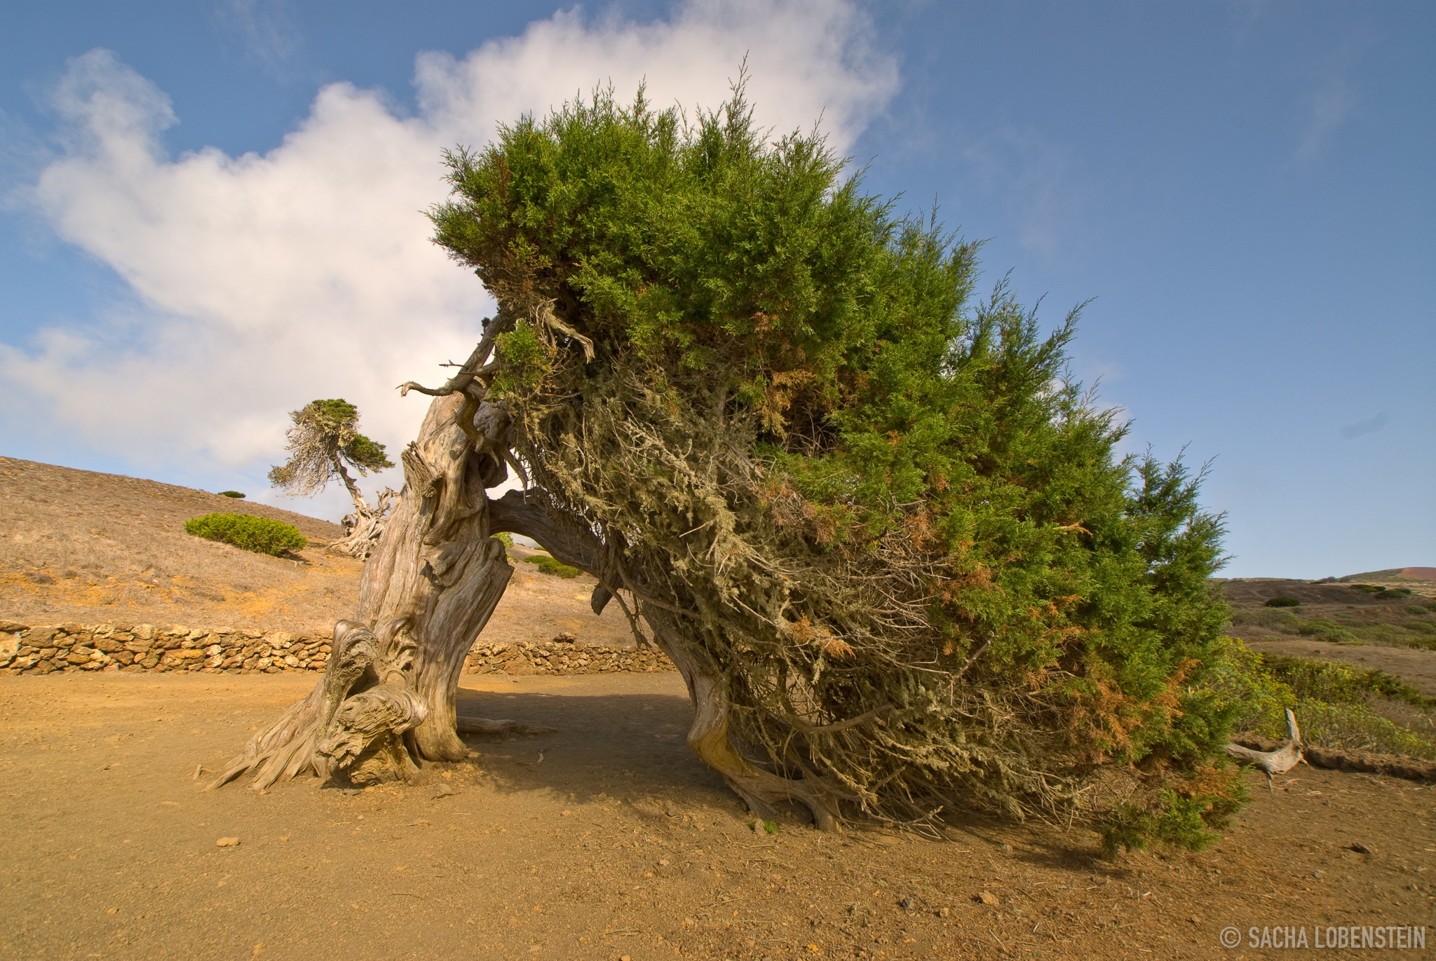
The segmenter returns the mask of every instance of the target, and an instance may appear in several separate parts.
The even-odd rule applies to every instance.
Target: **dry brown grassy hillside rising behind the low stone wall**
[[[184,623],[329,633],[353,615],[362,565],[325,547],[343,529],[294,511],[151,480],[0,458],[0,619],[20,623]],[[224,511],[299,527],[309,547],[270,557],[194,537],[191,517]],[[633,644],[617,605],[589,609],[595,580],[521,563],[485,641],[573,633]]]

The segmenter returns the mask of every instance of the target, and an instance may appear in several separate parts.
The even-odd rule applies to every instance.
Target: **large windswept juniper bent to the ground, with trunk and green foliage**
[[[1180,463],[1114,452],[1076,312],[1044,335],[1004,286],[975,300],[972,244],[821,139],[765,141],[741,90],[692,126],[599,93],[447,162],[435,241],[498,313],[448,384],[405,385],[435,399],[356,618],[225,777],[462,757],[514,531],[673,659],[689,746],[754,812],[1192,840],[1232,809],[1221,520]]]

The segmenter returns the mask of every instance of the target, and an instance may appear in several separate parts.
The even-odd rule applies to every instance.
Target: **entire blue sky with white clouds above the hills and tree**
[[[1096,297],[1074,371],[1211,461],[1229,575],[1436,565],[1433,45],[1430,3],[7,4],[0,452],[337,516],[266,491],[286,412],[402,447],[490,306],[425,240],[438,149],[747,55],[988,282]]]

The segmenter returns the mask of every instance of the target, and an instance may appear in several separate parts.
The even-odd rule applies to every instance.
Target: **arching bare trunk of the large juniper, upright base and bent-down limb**
[[[727,679],[696,636],[696,615],[646,596],[649,577],[625,557],[622,539],[607,543],[582,517],[556,510],[536,491],[490,500],[508,465],[505,407],[484,401],[481,366],[505,329],[491,323],[460,375],[435,395],[419,437],[402,454],[405,486],[363,569],[355,621],[335,626],[325,678],[270,728],[261,731],[211,784],[244,773],[264,789],[281,777],[312,771],[353,783],[411,777],[415,761],[452,761],[468,748],[460,731],[521,730],[513,721],[462,718],[455,712],[460,671],[493,615],[513,567],[497,533],[531,537],[557,560],[593,575],[592,608],[619,598],[635,635],[646,621],[653,642],[684,675],[695,718],[688,744],[764,817],[778,807],[806,806],[819,827],[840,826],[840,803],[853,800],[837,784],[791,777],[763,764],[731,724]]]

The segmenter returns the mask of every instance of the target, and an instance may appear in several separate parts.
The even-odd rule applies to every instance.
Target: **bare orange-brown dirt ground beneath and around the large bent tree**
[[[465,678],[465,712],[557,733],[474,738],[478,757],[412,786],[201,790],[197,766],[312,682],[6,678],[0,952],[1258,958],[1307,952],[1249,950],[1251,928],[1304,927],[1310,944],[1318,927],[1436,922],[1436,791],[1307,767],[1272,794],[1252,776],[1252,804],[1205,853],[1103,862],[1090,833],[974,819],[942,842],[755,835],[684,744],[673,674]]]

